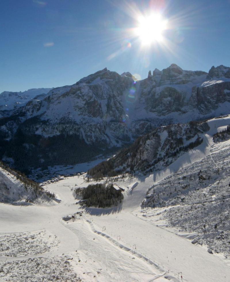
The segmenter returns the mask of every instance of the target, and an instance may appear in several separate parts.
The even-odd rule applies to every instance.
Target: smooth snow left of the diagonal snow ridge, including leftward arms
[[[79,178],[83,182],[83,178]],[[64,222],[61,218],[64,215],[78,211],[69,181],[76,183],[76,178],[70,177],[65,181],[49,185],[51,191],[55,191],[62,198],[61,204],[53,206],[13,206],[0,204],[0,234],[10,232],[33,231],[45,229],[57,235],[60,244],[53,252],[43,254],[0,257],[1,261],[26,260],[34,257],[49,257],[62,254],[84,257],[84,264],[81,268],[78,262],[73,262],[76,273],[94,272],[97,277],[87,279],[81,276],[83,281],[158,281],[165,271],[153,266],[132,253],[118,248],[109,240],[95,234],[86,219],[75,222]],[[87,184],[86,184],[87,185]],[[78,250],[78,253],[76,253]],[[92,271],[93,270],[93,271]],[[99,273],[99,274],[98,274]],[[164,281],[165,279],[162,278]],[[176,281],[176,280],[175,280]]]

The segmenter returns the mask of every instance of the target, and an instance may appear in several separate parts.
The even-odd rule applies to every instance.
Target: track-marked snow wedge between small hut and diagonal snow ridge
[[[81,279],[103,282],[152,281],[164,275],[164,272],[162,273],[156,267],[147,264],[124,248],[120,249],[107,238],[92,232],[91,226],[85,219],[68,222],[66,225],[81,242],[79,249],[75,252],[81,261],[73,260],[76,273]]]

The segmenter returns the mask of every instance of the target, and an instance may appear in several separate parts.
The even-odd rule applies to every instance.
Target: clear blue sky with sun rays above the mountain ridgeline
[[[143,26],[152,14],[162,21]],[[74,84],[104,67],[142,79],[171,63],[230,66],[229,14],[230,0],[1,0],[0,93]]]

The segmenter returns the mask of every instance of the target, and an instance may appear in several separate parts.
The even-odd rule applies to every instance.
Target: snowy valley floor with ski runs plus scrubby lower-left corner
[[[218,122],[224,125],[217,120],[215,126]],[[225,123],[229,124],[229,119]],[[47,281],[48,278],[56,281],[57,276],[61,281],[76,281],[77,277],[83,281],[229,281],[227,261],[138,216],[141,201],[153,184],[209,154],[214,123],[209,125],[210,132],[204,134],[204,142],[166,169],[149,177],[116,181],[125,190],[124,200],[117,208],[82,208],[76,204],[71,189],[89,184],[84,175],[44,186],[62,199],[60,204],[14,206],[1,203],[0,235],[28,232],[31,237],[37,230],[43,230],[47,237],[44,244],[30,242],[33,254],[16,250],[16,256],[6,257],[5,252],[0,253],[0,281],[18,281],[18,277],[20,281]],[[136,182],[138,185],[134,187]],[[81,210],[83,216],[62,220],[63,216]],[[21,244],[26,246],[25,236],[23,238]],[[39,249],[40,245],[47,246],[48,239],[52,241],[49,248]],[[7,241],[3,244],[7,245]],[[49,266],[50,276],[45,265]]]

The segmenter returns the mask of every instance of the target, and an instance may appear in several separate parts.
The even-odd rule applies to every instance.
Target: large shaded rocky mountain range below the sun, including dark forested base
[[[51,89],[1,119],[0,157],[21,170],[84,162],[161,125],[227,114],[228,68],[216,69],[207,74],[172,64],[138,81],[105,68]]]

